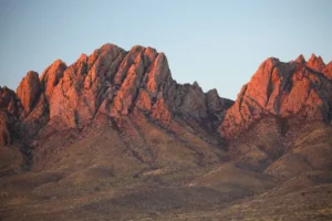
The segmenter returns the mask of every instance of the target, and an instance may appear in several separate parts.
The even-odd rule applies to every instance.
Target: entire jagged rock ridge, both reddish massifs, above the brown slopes
[[[289,116],[287,113],[299,112],[300,107],[295,107],[297,109],[283,107],[284,101],[297,101],[308,93],[311,94],[305,99],[312,99],[313,103],[299,101],[297,105],[311,105],[311,108],[324,106],[325,110],[322,110],[319,118],[329,122],[332,106],[329,95],[331,70],[332,62],[325,65],[322,57],[314,54],[308,62],[303,55],[290,63],[270,57],[260,65],[234,103],[219,97],[216,90],[204,93],[197,82],[193,85],[177,84],[172,77],[165,54],[158,53],[155,49],[136,45],[125,52],[115,44],[104,44],[89,56],[82,54],[70,66],[56,60],[41,75],[28,72],[15,95],[7,92],[4,87],[2,107],[8,106],[8,112],[3,115],[11,115],[10,125],[14,118],[17,118],[14,122],[21,124],[14,126],[14,130],[21,131],[18,134],[30,134],[21,136],[28,140],[59,117],[69,127],[82,127],[97,114],[118,117],[134,109],[145,112],[165,124],[174,115],[184,115],[209,133],[216,133],[216,128],[219,127],[220,137],[230,139],[248,128],[261,113],[287,117]],[[295,76],[303,78],[304,75],[310,75],[312,80],[294,78]],[[313,75],[317,78],[313,78]],[[301,84],[302,91],[299,91],[299,86],[293,87],[293,83],[295,86]],[[324,91],[324,94],[317,94],[317,90],[311,90],[314,87],[313,84],[315,87],[323,84],[324,88],[321,91]],[[293,92],[297,96],[291,94],[290,97],[286,97],[284,94],[292,93],[292,90],[298,90]],[[271,103],[270,98],[276,101]],[[322,104],[317,105],[315,102]],[[313,115],[318,113],[305,113],[309,119],[314,118]],[[37,119],[40,123],[32,123]],[[6,135],[2,136],[1,144],[12,140],[11,135],[9,136],[10,129],[7,127],[6,124],[2,126]],[[27,131],[31,129],[24,127],[32,128],[32,131]]]

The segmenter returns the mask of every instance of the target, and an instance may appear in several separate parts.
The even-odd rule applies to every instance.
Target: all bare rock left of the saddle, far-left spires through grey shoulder
[[[45,126],[83,128],[101,114],[115,119],[134,112],[166,128],[180,118],[194,129],[216,131],[232,105],[216,90],[205,93],[196,82],[174,81],[164,53],[141,45],[127,52],[114,44],[82,54],[70,66],[56,60],[40,76],[28,72],[13,97],[18,104],[8,97],[2,103],[17,117],[15,130],[24,143]]]

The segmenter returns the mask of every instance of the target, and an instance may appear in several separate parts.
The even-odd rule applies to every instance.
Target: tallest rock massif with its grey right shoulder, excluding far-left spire
[[[165,54],[152,48],[134,46],[125,52],[105,44],[66,69],[61,61],[54,62],[41,78],[50,120],[60,117],[70,127],[84,126],[98,113],[120,117],[134,109],[158,119],[167,109],[167,118],[178,113],[201,122],[211,112],[225,112],[231,103],[225,99],[222,108],[224,99],[217,93],[208,96],[198,84],[177,84]]]

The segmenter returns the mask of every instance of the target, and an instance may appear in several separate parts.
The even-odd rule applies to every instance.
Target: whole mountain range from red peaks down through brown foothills
[[[234,102],[105,44],[0,87],[0,218],[331,220],[331,125],[314,54],[267,59]]]

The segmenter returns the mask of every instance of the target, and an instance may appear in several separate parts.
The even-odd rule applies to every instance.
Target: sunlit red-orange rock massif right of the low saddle
[[[331,64],[325,65],[314,54],[308,62],[302,55],[289,63],[271,57],[243,85],[219,131],[222,137],[231,138],[263,115],[281,118],[297,115],[329,123],[331,108]]]

